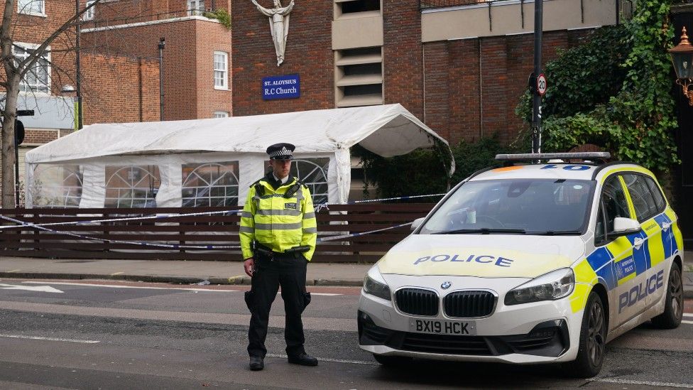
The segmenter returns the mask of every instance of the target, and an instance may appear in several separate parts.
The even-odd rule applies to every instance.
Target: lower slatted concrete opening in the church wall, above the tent
[[[383,55],[380,47],[334,52],[337,107],[383,104]]]

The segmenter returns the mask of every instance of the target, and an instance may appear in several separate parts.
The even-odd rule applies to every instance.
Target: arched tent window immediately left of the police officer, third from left
[[[239,163],[193,163],[182,166],[182,205],[236,206]]]

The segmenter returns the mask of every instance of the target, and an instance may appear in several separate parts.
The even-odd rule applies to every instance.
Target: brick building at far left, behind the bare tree
[[[4,11],[3,5],[0,10]],[[11,32],[16,58],[26,58],[74,15],[75,1],[16,1]],[[21,176],[26,151],[75,127],[75,94],[62,92],[76,84],[75,37],[74,28],[58,36],[20,84],[18,109],[35,112],[33,117],[21,118],[26,127],[19,150]],[[158,119],[158,60],[90,53],[82,53],[81,60],[84,124]],[[0,72],[4,78],[4,69]]]

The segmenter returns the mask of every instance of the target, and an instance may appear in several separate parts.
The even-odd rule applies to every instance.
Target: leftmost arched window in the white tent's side
[[[80,207],[82,170],[77,165],[39,164],[33,171],[33,207]]]

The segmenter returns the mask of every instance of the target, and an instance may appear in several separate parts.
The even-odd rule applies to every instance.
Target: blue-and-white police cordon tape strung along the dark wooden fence
[[[387,201],[387,200],[403,200],[403,199],[413,199],[413,198],[417,198],[417,197],[434,197],[434,196],[442,196],[442,195],[445,195],[445,194],[410,195],[410,196],[403,196],[403,197],[387,197],[387,198],[372,199],[372,200],[354,200],[351,202],[346,202],[346,204],[356,204],[356,203],[365,203],[365,202],[383,202],[383,201]],[[319,212],[320,210],[322,210],[322,208],[329,210],[327,203],[320,203],[318,205],[315,205],[314,210],[316,212]],[[224,210],[224,211],[212,211],[212,212],[191,212],[191,213],[187,213],[187,214],[154,215],[151,217],[126,217],[126,218],[111,218],[111,219],[107,219],[107,220],[51,222],[51,223],[46,223],[46,224],[33,224],[31,222],[23,222],[21,220],[16,220],[16,219],[11,218],[11,217],[6,217],[4,215],[0,215],[0,219],[16,223],[16,225],[11,225],[11,226],[0,226],[0,229],[9,229],[9,228],[16,228],[16,227],[32,227],[34,229],[39,229],[39,230],[42,230],[44,232],[63,234],[66,236],[75,237],[75,238],[79,238],[79,239],[87,239],[87,240],[101,241],[101,242],[110,242],[110,243],[114,243],[114,244],[138,245],[141,247],[155,247],[155,248],[166,248],[166,249],[241,249],[240,245],[153,244],[151,242],[124,241],[124,240],[118,240],[118,239],[102,239],[102,238],[97,238],[97,237],[84,236],[82,234],[75,234],[75,233],[70,233],[70,232],[61,232],[61,231],[49,229],[46,227],[46,226],[65,226],[65,225],[90,224],[90,223],[93,224],[93,223],[104,223],[104,222],[158,220],[158,219],[173,218],[173,217],[195,217],[195,216],[200,216],[200,215],[240,214],[240,213],[241,213],[241,210],[236,210],[236,211]],[[317,243],[320,244],[320,242],[328,242],[328,241],[334,241],[337,239],[345,239],[345,238],[349,238],[349,237],[364,236],[366,234],[372,234],[372,233],[377,233],[377,232],[383,232],[386,230],[397,229],[399,227],[405,227],[405,226],[408,226],[410,224],[412,224],[412,222],[397,224],[397,225],[391,226],[391,227],[383,227],[381,229],[369,230],[368,232],[358,232],[358,233],[351,233],[351,234],[339,234],[339,235],[329,236],[329,237],[319,237],[317,239]]]

